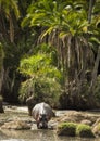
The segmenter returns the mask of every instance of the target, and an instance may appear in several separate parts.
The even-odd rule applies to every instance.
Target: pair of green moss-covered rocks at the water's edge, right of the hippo
[[[84,124],[76,123],[61,123],[57,128],[58,136],[95,138],[91,127]]]

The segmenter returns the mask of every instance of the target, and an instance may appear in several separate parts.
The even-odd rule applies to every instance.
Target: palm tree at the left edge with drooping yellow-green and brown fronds
[[[10,70],[12,68],[10,66],[11,61],[8,61],[8,56],[10,59],[13,52],[12,44],[13,47],[15,47],[14,30],[15,30],[15,24],[16,24],[15,22],[18,17],[20,17],[20,11],[17,7],[17,0],[14,0],[14,1],[0,0],[0,62],[1,62],[0,63],[0,94],[2,94],[2,97],[3,97],[4,88],[7,87],[5,84],[10,84],[11,79],[14,80],[14,78],[9,77]],[[4,57],[3,57],[3,54],[4,54]],[[15,66],[13,66],[13,69],[15,69],[14,67]],[[11,84],[14,84],[14,82],[12,81]]]

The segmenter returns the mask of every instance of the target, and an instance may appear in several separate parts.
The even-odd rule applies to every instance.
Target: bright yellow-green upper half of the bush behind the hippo
[[[35,54],[22,59],[18,68],[20,73],[34,78],[49,77],[61,80],[62,75],[55,66],[58,64],[54,63],[57,62],[57,60],[54,60],[57,54],[55,51],[50,48],[48,44],[41,44],[41,48],[36,48]]]

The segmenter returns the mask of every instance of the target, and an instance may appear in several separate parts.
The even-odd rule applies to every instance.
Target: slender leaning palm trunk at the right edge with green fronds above
[[[99,23],[100,23],[100,18],[99,18],[99,7],[100,7],[100,1],[97,0],[90,0],[89,2],[89,13],[88,13],[88,22],[91,23],[91,30],[95,30],[93,35],[91,35],[91,41],[93,41],[96,43],[95,46],[95,50],[97,53],[97,57],[95,61],[95,66],[93,66],[93,70],[92,70],[92,79],[91,79],[91,85],[90,85],[90,90],[95,91],[95,84],[98,77],[98,68],[99,68],[99,62],[100,62],[100,29],[99,29]],[[92,17],[92,21],[91,21]],[[97,33],[97,34],[96,34]]]

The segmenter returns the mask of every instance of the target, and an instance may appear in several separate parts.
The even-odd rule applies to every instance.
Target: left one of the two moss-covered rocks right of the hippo
[[[75,123],[62,123],[58,126],[58,136],[71,136],[74,137],[76,132]]]

